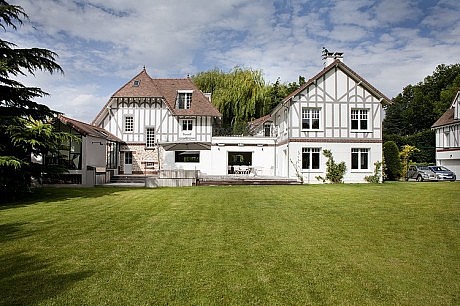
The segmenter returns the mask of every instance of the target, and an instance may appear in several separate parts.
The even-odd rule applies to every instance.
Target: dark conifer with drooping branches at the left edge
[[[0,0],[0,27],[5,32],[16,31],[23,19],[28,16],[22,7]],[[37,70],[62,73],[56,57],[47,49],[19,48],[0,39],[0,201],[30,186],[31,176],[40,171],[31,163],[31,154],[56,149],[63,136],[48,124],[57,112],[34,101],[47,93],[17,81],[18,76],[34,75]]]

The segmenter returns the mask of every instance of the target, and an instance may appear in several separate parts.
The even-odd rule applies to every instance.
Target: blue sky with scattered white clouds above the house
[[[38,102],[85,122],[143,66],[158,78],[242,66],[293,82],[323,68],[325,46],[392,98],[460,62],[458,0],[10,2],[30,22],[2,38],[55,51],[65,72],[22,81],[51,94]]]

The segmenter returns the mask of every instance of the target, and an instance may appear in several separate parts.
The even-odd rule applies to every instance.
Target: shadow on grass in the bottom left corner
[[[65,291],[90,271],[56,273],[46,260],[26,252],[0,256],[0,305],[31,305]]]

